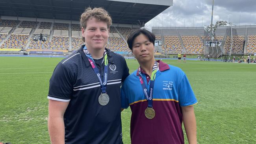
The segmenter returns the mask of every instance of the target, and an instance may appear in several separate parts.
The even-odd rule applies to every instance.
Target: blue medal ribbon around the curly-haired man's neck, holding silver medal
[[[97,68],[95,61],[93,60],[93,57],[91,56],[90,52],[87,50],[86,46],[84,46],[83,52],[85,53],[86,57],[88,58],[88,60],[91,64],[91,67],[93,67],[93,70],[100,81],[101,93],[106,93],[106,88],[107,88],[106,86],[107,86],[107,81],[108,81],[108,55],[107,55],[106,50],[104,50],[104,58],[102,59],[102,63],[104,62],[103,83],[102,83],[102,79],[100,78],[100,70]]]

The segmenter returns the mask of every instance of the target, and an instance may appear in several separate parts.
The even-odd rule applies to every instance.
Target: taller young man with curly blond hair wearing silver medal
[[[80,19],[85,44],[55,68],[49,87],[52,144],[122,144],[120,86],[124,57],[105,48],[111,17],[87,8]]]

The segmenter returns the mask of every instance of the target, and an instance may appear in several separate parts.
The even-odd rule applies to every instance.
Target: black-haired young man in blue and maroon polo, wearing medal
[[[132,144],[197,144],[194,92],[184,72],[154,58],[155,36],[145,29],[130,33],[127,43],[139,68],[121,88],[121,107],[130,106]]]

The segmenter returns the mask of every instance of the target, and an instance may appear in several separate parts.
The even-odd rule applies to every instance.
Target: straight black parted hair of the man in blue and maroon
[[[151,33],[150,31],[146,30],[146,29],[135,29],[134,31],[132,31],[127,39],[127,44],[129,46],[129,48],[132,50],[132,44],[134,42],[134,39],[140,35],[140,34],[145,35],[146,37],[148,37],[148,40],[150,42],[153,43],[153,45],[155,45],[155,40],[156,40],[156,36],[154,35],[154,33]]]

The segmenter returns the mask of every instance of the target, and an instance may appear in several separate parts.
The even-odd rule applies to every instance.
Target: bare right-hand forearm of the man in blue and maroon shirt
[[[189,144],[197,144],[197,123],[194,113],[194,107],[181,107],[183,114],[184,127]]]

